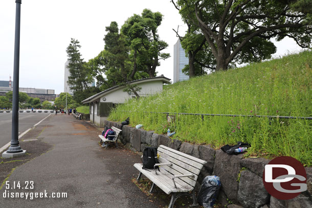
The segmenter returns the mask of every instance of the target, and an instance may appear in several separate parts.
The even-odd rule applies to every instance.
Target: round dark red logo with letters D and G
[[[307,190],[305,169],[293,157],[272,159],[264,167],[262,180],[266,191],[277,199],[292,199]]]

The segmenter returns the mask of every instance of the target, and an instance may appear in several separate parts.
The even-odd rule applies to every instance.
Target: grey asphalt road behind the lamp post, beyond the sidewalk
[[[20,112],[18,113],[18,135],[32,128],[36,123],[46,118],[49,112]],[[54,114],[54,113],[52,113]],[[12,112],[0,112],[0,148],[11,141]]]

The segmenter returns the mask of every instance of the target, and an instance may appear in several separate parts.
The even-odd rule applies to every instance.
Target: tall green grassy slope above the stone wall
[[[167,86],[163,93],[130,100],[110,114],[111,120],[128,116],[134,126],[166,133],[174,138],[216,148],[237,141],[249,142],[250,155],[288,155],[312,166],[312,121],[243,117],[179,115],[167,124],[165,114],[186,112],[312,117],[312,53],[213,73]],[[131,111],[131,112],[123,112]]]

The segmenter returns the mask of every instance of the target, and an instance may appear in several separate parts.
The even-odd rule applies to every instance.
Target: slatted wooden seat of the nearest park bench
[[[189,186],[185,183],[185,186],[182,186],[180,183],[176,181],[176,187],[174,187],[173,181],[171,179],[171,174],[165,174],[164,172],[158,172],[158,175],[155,174],[155,171],[149,172],[147,170],[142,169],[142,164],[135,164],[133,165],[135,168],[137,168],[140,172],[142,172],[148,179],[150,179],[153,183],[155,183],[156,186],[158,186],[160,189],[162,189],[166,194],[170,194],[171,192],[190,192],[194,188]],[[169,176],[169,177],[168,177]]]

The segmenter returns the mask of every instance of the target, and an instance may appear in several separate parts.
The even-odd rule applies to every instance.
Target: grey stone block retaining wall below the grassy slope
[[[105,121],[105,125],[122,129],[120,142],[130,150],[143,152],[145,147],[165,145],[175,150],[207,161],[199,174],[196,189],[204,177],[216,175],[220,177],[221,191],[218,202],[227,207],[250,208],[312,208],[312,168],[306,168],[307,191],[294,199],[276,199],[264,189],[262,174],[264,166],[270,160],[265,158],[243,158],[242,154],[229,155],[222,150],[214,150],[209,145],[193,145],[179,140],[173,140],[167,135],[153,131],[145,131],[121,123]]]

